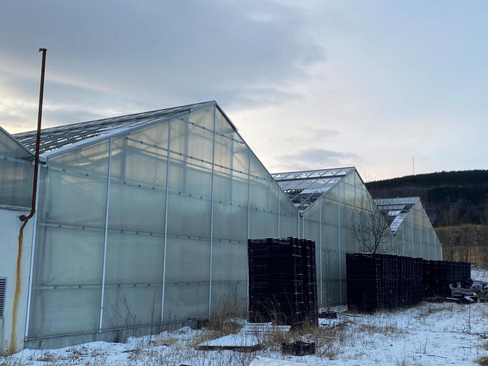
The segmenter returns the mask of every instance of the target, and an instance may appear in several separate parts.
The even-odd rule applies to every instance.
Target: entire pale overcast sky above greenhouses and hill
[[[1,1],[0,125],[216,100],[270,172],[488,168],[487,1]]]

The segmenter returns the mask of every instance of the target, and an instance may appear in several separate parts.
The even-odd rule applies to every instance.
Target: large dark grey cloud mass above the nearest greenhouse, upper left
[[[45,101],[72,105],[73,113],[214,99],[226,108],[283,104],[300,98],[290,85],[325,60],[305,11],[258,0],[3,2],[0,33],[9,36],[0,39],[0,61],[16,76],[2,84],[35,101],[42,46]]]

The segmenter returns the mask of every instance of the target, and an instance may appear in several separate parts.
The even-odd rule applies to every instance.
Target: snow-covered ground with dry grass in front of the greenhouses
[[[486,275],[473,270],[474,279],[487,280]],[[479,365],[477,360],[488,357],[487,303],[423,304],[358,315],[321,319],[321,326],[305,332],[308,334],[293,331],[285,335],[281,332],[256,334],[253,337],[265,348],[252,353],[197,351],[195,347],[199,344],[225,334],[182,328],[157,336],[129,338],[125,343],[93,342],[58,350],[24,350],[0,358],[0,365],[247,366],[255,356],[261,355],[309,365],[428,366]],[[239,333],[236,337],[239,338]],[[316,342],[316,355],[281,355],[280,343],[296,340]]]

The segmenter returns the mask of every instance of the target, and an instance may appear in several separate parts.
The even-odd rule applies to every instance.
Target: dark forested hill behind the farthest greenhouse
[[[366,186],[374,198],[420,197],[434,226],[486,224],[488,170],[408,175]]]

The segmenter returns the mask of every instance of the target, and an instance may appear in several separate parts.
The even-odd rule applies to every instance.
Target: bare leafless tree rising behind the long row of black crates
[[[368,253],[394,252],[390,222],[386,215],[378,209],[369,194],[362,197],[360,207],[352,217],[359,249]]]

